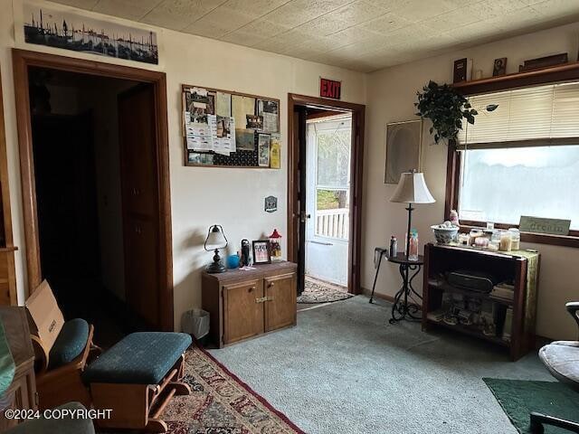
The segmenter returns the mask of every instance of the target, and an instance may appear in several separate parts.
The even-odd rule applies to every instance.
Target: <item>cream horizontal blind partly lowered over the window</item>
[[[459,146],[579,144],[579,82],[477,95],[469,100],[479,115],[474,125],[464,122]],[[498,104],[498,109],[485,111],[489,104]]]

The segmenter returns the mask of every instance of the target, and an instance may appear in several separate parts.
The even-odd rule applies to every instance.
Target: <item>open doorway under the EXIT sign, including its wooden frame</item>
[[[299,296],[321,296],[302,302],[336,301],[360,291],[365,106],[288,99],[288,259],[298,263]]]

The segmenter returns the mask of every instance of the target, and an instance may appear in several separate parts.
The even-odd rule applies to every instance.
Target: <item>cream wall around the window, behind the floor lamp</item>
[[[413,107],[416,92],[428,80],[451,82],[452,62],[457,59],[473,59],[473,70],[482,70],[483,77],[492,75],[493,60],[499,57],[508,57],[508,72],[517,71],[525,59],[557,52],[568,52],[570,60],[574,61],[579,50],[578,33],[579,24],[570,24],[368,74],[363,288],[372,288],[375,246],[387,245],[392,234],[403,238],[406,230],[407,214],[403,204],[388,202],[395,185],[384,184],[386,124],[416,118]],[[430,225],[441,222],[444,213],[447,146],[432,143],[425,127],[422,167],[437,202],[417,205],[417,211],[413,212],[413,226],[418,229],[421,245],[433,241]],[[576,268],[579,250],[542,244],[524,244],[524,247],[533,247],[542,253],[536,333],[554,339],[576,338],[576,325],[565,311],[565,302],[579,299],[579,271]],[[376,291],[394,296],[400,284],[398,270],[389,265],[382,268]],[[422,277],[416,278],[415,286],[422,288]]]

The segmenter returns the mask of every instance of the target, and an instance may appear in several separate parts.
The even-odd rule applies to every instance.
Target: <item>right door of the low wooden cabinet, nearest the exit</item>
[[[296,274],[264,278],[265,331],[296,324]]]

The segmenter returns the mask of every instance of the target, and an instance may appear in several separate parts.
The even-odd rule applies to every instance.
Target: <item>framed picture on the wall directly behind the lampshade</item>
[[[400,175],[422,170],[422,119],[386,125],[384,184],[398,184]]]

